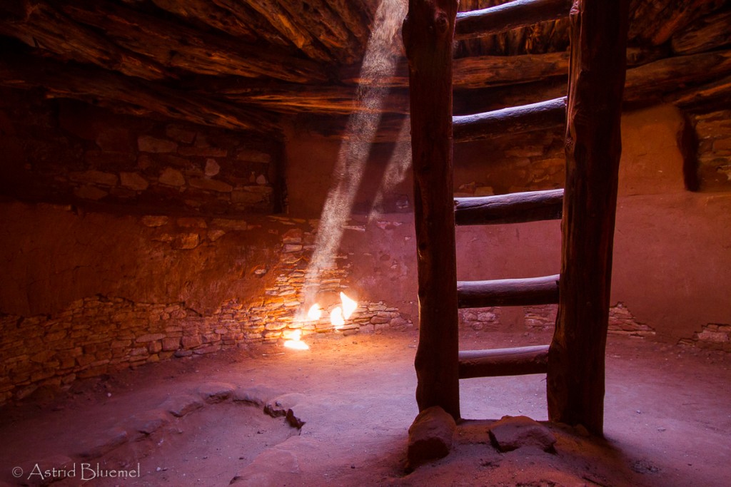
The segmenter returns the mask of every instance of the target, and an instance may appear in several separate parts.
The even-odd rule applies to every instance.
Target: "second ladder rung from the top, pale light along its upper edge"
[[[566,96],[492,112],[452,117],[455,142],[493,139],[510,134],[553,129],[566,124]]]

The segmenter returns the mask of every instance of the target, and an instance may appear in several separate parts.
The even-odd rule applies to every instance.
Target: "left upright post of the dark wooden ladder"
[[[409,0],[404,45],[419,274],[419,410],[459,411],[457,271],[452,188],[452,38],[458,0]]]

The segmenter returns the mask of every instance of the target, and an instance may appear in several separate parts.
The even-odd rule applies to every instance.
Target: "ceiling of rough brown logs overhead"
[[[505,2],[460,3],[466,11]],[[276,134],[287,120],[309,120],[339,137],[346,115],[371,110],[355,101],[378,4],[3,0],[0,85],[224,129]],[[729,102],[731,1],[632,0],[630,8],[626,101]],[[455,112],[564,96],[568,43],[566,19],[458,41]],[[400,33],[387,54],[395,73],[368,81],[385,88],[382,129],[395,137],[408,99]]]

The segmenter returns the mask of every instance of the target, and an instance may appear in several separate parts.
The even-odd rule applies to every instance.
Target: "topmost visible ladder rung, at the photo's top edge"
[[[569,15],[571,0],[515,0],[457,14],[455,39],[487,36]]]

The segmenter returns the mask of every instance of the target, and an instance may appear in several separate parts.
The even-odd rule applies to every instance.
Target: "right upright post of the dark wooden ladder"
[[[551,421],[601,436],[629,0],[575,0]]]

